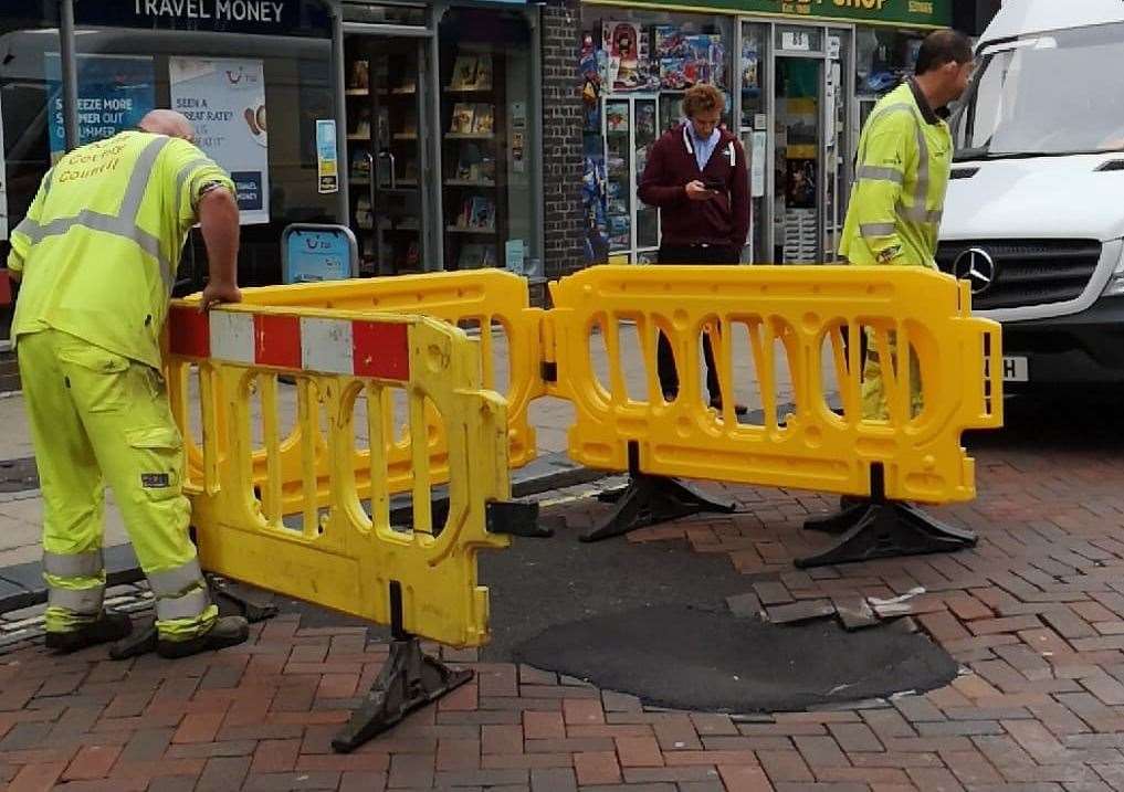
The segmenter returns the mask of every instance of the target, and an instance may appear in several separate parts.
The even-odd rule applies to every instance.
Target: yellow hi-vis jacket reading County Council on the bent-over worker
[[[126,131],[64,155],[11,233],[11,337],[52,327],[154,368],[180,253],[223,169],[179,138]]]

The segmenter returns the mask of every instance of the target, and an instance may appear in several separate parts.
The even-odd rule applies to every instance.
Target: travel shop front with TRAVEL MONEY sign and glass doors
[[[58,156],[171,107],[237,185],[244,285],[282,281],[292,224],[347,225],[362,275],[541,274],[537,7],[21,4],[0,10],[0,256]],[[192,234],[178,290],[206,272]]]

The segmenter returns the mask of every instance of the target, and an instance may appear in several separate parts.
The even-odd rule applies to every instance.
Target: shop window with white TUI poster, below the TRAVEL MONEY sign
[[[197,145],[232,174],[243,285],[281,280],[285,226],[335,221],[335,195],[319,192],[316,152],[317,119],[335,117],[327,12],[308,0],[271,6],[280,16],[251,13],[252,4],[224,4],[223,18],[216,6],[211,17],[188,20],[138,17],[133,3],[83,2],[74,39],[81,143],[170,107],[192,120]],[[57,64],[47,58],[48,71]],[[55,126],[48,136],[58,156],[64,146]],[[199,289],[206,274],[197,230],[181,260],[179,292]]]

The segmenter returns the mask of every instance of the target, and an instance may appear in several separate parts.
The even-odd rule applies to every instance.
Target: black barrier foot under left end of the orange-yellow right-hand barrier
[[[618,491],[613,512],[601,525],[581,536],[582,541],[600,541],[628,531],[677,520],[700,511],[728,515],[736,506],[719,502],[677,479],[640,471],[640,448],[628,444],[628,485]]]

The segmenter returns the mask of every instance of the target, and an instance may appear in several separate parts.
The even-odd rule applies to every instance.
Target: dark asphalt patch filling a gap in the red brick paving
[[[735,712],[925,691],[955,677],[948,654],[892,622],[847,634],[835,619],[776,626],[735,617],[726,598],[762,577],[740,574],[725,553],[696,553],[683,540],[580,543],[607,508],[550,508],[547,517],[565,515],[570,526],[480,554],[492,631],[482,661],[525,662],[655,705]],[[369,623],[293,601],[282,610],[300,611],[305,627]],[[369,635],[384,640],[388,630]]]

